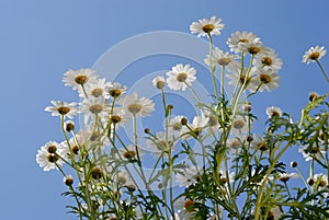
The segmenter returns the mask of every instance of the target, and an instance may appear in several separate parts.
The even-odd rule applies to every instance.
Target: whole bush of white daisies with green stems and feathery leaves
[[[209,43],[203,76],[212,81],[209,103],[194,90],[197,68],[190,63],[168,67],[149,82],[161,93],[157,108],[151,99],[95,70],[64,74],[79,101],[52,101],[45,108],[59,118],[63,138],[41,147],[36,162],[63,174],[63,195],[72,198],[67,207],[78,219],[329,218],[328,93],[311,92],[297,119],[269,106],[263,131],[256,134],[252,96],[279,88],[283,61],[251,32],[232,33],[229,51],[220,49],[213,37],[224,26],[216,16],[190,25]],[[320,63],[326,51],[310,47],[302,61],[316,62],[329,84]],[[164,88],[191,93],[197,114],[177,115]],[[155,111],[163,127],[145,126],[140,135],[138,121]],[[128,138],[121,132],[126,126],[133,130]],[[283,160],[290,148],[305,158],[307,172]]]

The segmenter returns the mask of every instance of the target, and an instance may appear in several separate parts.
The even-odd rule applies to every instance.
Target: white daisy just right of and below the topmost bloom
[[[259,48],[262,45],[260,38],[251,32],[235,32],[228,38],[227,44],[230,51],[237,54],[249,53],[252,47]]]

